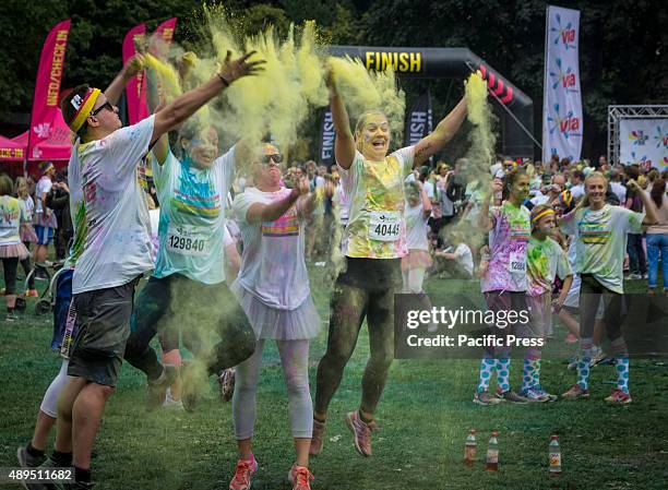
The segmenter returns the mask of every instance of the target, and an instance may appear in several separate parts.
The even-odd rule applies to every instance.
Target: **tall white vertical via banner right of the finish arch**
[[[580,11],[548,5],[545,28],[542,159],[578,160],[582,151]]]

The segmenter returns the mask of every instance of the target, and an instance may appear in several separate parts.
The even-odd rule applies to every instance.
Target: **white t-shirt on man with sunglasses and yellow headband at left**
[[[151,116],[72,152],[70,165],[80,168],[84,194],[75,228],[85,227],[73,294],[121,286],[153,268],[148,206],[138,179],[153,121]]]

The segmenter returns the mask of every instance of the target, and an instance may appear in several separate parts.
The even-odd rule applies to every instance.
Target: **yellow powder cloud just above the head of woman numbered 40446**
[[[396,86],[394,71],[370,72],[360,60],[350,57],[331,57],[327,62],[350,117],[356,119],[366,110],[378,109],[386,116],[393,138],[401,141],[406,95]]]

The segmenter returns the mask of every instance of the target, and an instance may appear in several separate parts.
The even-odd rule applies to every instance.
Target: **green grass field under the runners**
[[[313,285],[325,283],[321,270],[312,272]],[[472,296],[478,294],[476,283],[439,279],[429,282],[428,289],[449,294],[455,285]],[[314,296],[323,331],[311,347],[312,392],[315,366],[326,340],[329,290],[321,286]],[[29,440],[44,392],[60,366],[58,356],[48,348],[51,318],[34,315],[33,304],[31,300],[21,321],[0,322],[0,467],[16,465],[16,447]],[[563,337],[562,327],[557,332]],[[634,403],[629,406],[603,402],[615,373],[611,367],[597,367],[592,373],[589,401],[479,407],[472,403],[477,361],[395,361],[378,414],[374,455],[361,458],[343,417],[359,403],[367,356],[365,331],[332,404],[324,451],[311,462],[313,489],[667,488],[668,368],[661,362],[632,361]],[[515,361],[514,386],[520,371],[521,362]],[[546,360],[542,380],[550,392],[561,393],[575,375],[562,361]],[[236,445],[230,405],[217,399],[213,379],[212,393],[194,414],[147,414],[143,374],[126,364],[97,438],[93,461],[96,488],[226,489],[237,461]],[[464,441],[470,428],[479,434],[479,462],[465,467]],[[500,432],[500,468],[487,473],[482,458],[493,429]],[[548,474],[548,442],[553,433],[561,440],[563,474],[559,477]],[[264,354],[254,453],[260,471],[253,489],[288,489],[285,477],[294,453],[287,396],[273,345]]]

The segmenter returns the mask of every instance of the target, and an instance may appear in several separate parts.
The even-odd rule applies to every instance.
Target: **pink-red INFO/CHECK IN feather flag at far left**
[[[31,160],[70,158],[70,129],[58,106],[69,35],[68,19],[53,26],[41,48],[27,134],[27,157]]]

